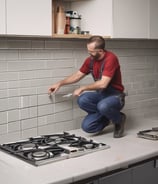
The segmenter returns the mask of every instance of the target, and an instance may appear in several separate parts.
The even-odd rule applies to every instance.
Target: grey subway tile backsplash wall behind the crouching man
[[[120,60],[127,116],[158,114],[158,40],[107,40]],[[4,39],[0,42],[0,142],[77,129],[86,115],[76,98],[79,85],[48,96],[48,87],[75,72],[87,55],[86,40]]]

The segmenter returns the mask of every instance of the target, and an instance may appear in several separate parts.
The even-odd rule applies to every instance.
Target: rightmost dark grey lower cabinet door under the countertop
[[[132,169],[133,184],[157,184],[158,168],[155,168],[154,161],[138,165]]]

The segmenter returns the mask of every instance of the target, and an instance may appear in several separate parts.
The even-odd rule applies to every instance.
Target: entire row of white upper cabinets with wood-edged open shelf
[[[0,0],[0,34],[52,36],[54,2],[81,14],[81,30],[108,38],[158,38],[157,0]],[[84,35],[54,37],[86,38]]]

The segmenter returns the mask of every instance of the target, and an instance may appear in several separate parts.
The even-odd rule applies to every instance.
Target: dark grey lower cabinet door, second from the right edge
[[[104,178],[100,178],[99,184],[132,184],[131,170],[130,169],[124,170],[124,171],[106,176]]]

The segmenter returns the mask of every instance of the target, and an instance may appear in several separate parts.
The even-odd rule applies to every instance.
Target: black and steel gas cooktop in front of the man
[[[109,147],[104,143],[67,132],[30,137],[26,140],[0,145],[0,149],[4,152],[35,166],[85,155]]]

